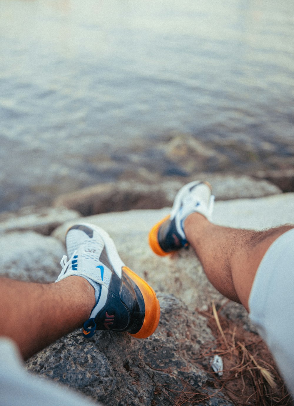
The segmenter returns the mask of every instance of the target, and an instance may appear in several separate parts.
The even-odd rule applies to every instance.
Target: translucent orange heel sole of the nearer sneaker
[[[152,335],[159,323],[160,306],[156,294],[151,286],[148,285],[144,279],[140,278],[135,272],[130,270],[127,266],[123,266],[124,272],[136,283],[139,287],[145,303],[145,317],[140,330],[136,334],[130,334],[136,338],[147,338]]]

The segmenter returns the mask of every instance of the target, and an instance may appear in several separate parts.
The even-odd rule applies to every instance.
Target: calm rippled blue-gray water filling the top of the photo
[[[289,167],[293,124],[293,0],[0,1],[0,211],[139,168]]]

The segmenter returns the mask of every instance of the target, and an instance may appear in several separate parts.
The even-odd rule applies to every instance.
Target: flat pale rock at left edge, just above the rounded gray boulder
[[[18,212],[0,214],[0,233],[7,231],[35,231],[49,235],[56,227],[66,221],[75,220],[80,214],[65,207],[24,207]]]

